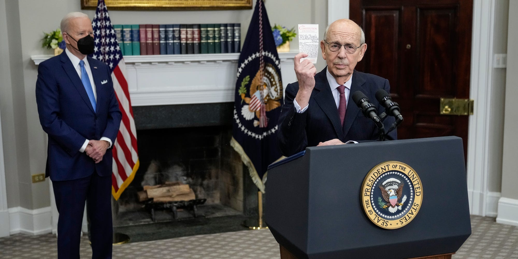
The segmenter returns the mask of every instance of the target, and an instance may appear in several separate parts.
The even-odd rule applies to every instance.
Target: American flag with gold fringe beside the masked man
[[[113,25],[108,15],[104,0],[97,2],[97,9],[92,21],[95,48],[92,57],[109,66],[113,89],[122,112],[122,122],[113,143],[113,166],[111,175],[111,193],[117,200],[124,189],[131,183],[137,172],[139,161],[137,153],[137,132],[133,120],[130,92],[126,81],[126,65],[117,42]]]

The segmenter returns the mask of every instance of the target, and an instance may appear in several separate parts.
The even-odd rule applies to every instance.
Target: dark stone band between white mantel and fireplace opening
[[[232,125],[234,103],[134,106],[137,130]]]

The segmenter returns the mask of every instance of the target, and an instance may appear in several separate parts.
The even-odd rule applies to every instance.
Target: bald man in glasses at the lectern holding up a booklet
[[[287,85],[279,117],[279,146],[285,156],[306,147],[379,137],[376,124],[363,115],[350,94],[362,91],[372,103],[376,91],[390,90],[389,80],[354,70],[367,50],[362,28],[348,19],[337,20],[326,28],[320,47],[327,67],[318,74],[309,60],[300,62],[308,56],[306,53],[295,56],[298,81]],[[377,109],[378,114],[384,111],[379,104]],[[386,118],[385,129],[394,121],[393,117]],[[396,139],[396,131],[388,138]]]

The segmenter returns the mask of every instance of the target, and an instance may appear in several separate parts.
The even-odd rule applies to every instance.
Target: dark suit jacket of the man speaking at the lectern
[[[279,146],[285,156],[334,138],[342,142],[379,138],[376,124],[365,117],[354,104],[352,94],[362,91],[369,98],[370,103],[377,106],[378,114],[381,114],[385,108],[377,102],[375,94],[379,89],[389,92],[389,80],[354,70],[351,93],[347,100],[346,118],[342,127],[335,99],[327,82],[326,69],[327,67],[315,75],[315,87],[309,98],[309,107],[303,113],[297,113],[293,105],[293,99],[298,92],[298,82],[286,86],[284,105],[279,117],[278,135]],[[385,130],[388,130],[394,121],[393,117],[385,118],[383,121]],[[396,139],[396,131],[392,131],[389,136]]]

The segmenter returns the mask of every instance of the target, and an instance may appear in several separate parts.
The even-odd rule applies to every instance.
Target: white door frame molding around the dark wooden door
[[[488,134],[491,113],[487,107],[491,107],[492,101],[495,1],[473,0],[469,97],[475,100],[475,107],[468,123],[466,166],[470,213],[492,217],[497,213],[493,204],[497,193],[490,192],[487,186],[491,144]],[[327,23],[342,18],[349,18],[349,0],[328,0]]]

